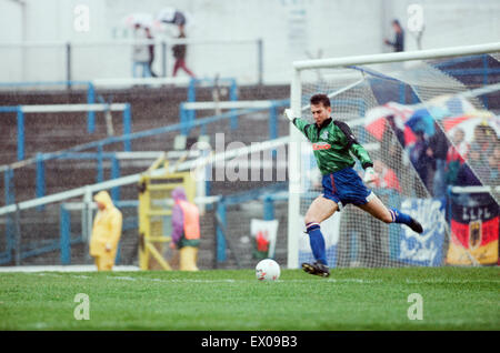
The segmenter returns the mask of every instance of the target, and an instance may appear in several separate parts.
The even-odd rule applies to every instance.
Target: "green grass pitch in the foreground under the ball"
[[[499,269],[0,273],[0,330],[499,330]],[[84,293],[89,320],[76,320]],[[411,293],[422,320],[409,320]]]

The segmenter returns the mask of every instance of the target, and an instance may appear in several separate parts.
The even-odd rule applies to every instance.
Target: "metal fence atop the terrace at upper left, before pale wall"
[[[156,54],[152,71],[158,77],[172,75],[174,64],[172,47],[186,44],[187,64],[198,78],[237,74],[238,81],[242,83],[261,84],[263,81],[261,39],[231,41],[171,39],[1,43],[0,56],[9,70],[0,72],[0,82],[132,78],[131,53],[136,44],[153,46]]]

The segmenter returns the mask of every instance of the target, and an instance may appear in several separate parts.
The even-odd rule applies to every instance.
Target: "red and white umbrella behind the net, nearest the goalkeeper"
[[[387,118],[394,117],[394,123],[401,130],[404,130],[404,122],[413,113],[413,110],[407,105],[388,102],[383,105],[374,107],[367,111],[364,115],[364,128],[377,140],[381,141],[387,128]]]

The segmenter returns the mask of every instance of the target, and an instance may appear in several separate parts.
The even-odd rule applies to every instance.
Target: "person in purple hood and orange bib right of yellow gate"
[[[171,249],[179,249],[180,270],[198,271],[198,246],[200,245],[200,213],[198,206],[188,202],[184,189],[172,191],[172,241]]]

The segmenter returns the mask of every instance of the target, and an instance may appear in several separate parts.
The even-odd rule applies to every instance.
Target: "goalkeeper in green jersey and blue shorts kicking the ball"
[[[320,276],[329,276],[324,239],[320,223],[340,211],[348,203],[384,223],[403,223],[417,233],[422,233],[422,225],[408,214],[396,209],[387,209],[377,195],[368,190],[364,183],[371,183],[377,175],[373,163],[364,148],[358,143],[351,129],[344,122],[333,120],[330,99],[326,94],[314,94],[310,99],[311,113],[316,123],[297,118],[291,109],[286,109],[286,117],[312,143],[313,154],[322,174],[323,194],[312,201],[306,213],[304,223],[314,255],[314,263],[302,263],[302,269]],[[361,162],[364,178],[352,169],[354,159]]]

